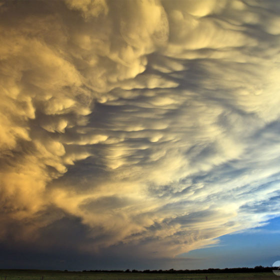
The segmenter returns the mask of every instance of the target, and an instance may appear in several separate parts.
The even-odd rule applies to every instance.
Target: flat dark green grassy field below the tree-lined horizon
[[[206,278],[207,277],[207,278]],[[50,270],[0,270],[0,280],[269,280],[273,272],[253,273],[125,273],[63,272]]]

